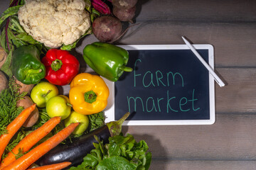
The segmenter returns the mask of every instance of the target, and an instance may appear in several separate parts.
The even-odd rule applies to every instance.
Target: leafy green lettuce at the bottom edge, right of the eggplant
[[[144,140],[136,142],[132,135],[110,137],[109,143],[94,143],[95,149],[84,157],[82,164],[70,170],[147,170],[151,164],[151,152]]]

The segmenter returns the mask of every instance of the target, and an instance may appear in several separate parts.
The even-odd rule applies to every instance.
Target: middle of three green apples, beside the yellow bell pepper
[[[46,103],[46,112],[50,118],[60,116],[61,120],[68,118],[71,113],[71,105],[68,97],[58,95],[50,98]]]

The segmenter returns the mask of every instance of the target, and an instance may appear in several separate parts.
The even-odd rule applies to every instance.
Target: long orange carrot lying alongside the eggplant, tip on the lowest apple
[[[50,151],[50,149],[53,149],[53,147],[65,140],[65,138],[67,138],[78,125],[79,123],[72,123],[68,125],[68,127],[60,130],[60,132],[58,132],[56,135],[46,140],[46,142],[41,143],[41,145],[38,145],[27,154],[24,154],[22,157],[16,159],[16,161],[13,163],[4,167],[3,170],[26,170],[28,166],[31,166],[31,164]]]

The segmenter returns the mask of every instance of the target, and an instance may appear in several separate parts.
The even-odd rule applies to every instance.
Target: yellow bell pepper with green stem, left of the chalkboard
[[[75,112],[83,115],[103,111],[109,95],[105,81],[97,75],[80,73],[70,83],[70,103]]]

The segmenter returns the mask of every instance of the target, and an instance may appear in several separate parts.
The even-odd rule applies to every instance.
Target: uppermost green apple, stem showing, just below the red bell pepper
[[[58,88],[54,84],[42,81],[31,90],[31,99],[38,108],[46,107],[46,102],[53,96],[58,95]]]

